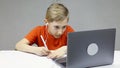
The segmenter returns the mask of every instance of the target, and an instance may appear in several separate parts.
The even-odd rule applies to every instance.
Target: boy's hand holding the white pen
[[[35,47],[33,51],[34,51],[33,53],[40,55],[40,56],[45,56],[50,53],[50,51],[46,49],[45,47]]]

